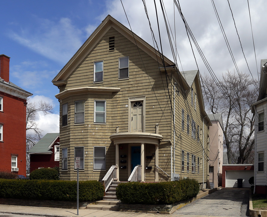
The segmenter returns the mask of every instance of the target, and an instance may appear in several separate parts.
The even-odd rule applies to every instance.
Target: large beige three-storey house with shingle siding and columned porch
[[[209,126],[198,71],[168,58],[111,16],[53,79],[60,101],[60,178],[208,178]],[[130,177],[130,176],[133,177]]]

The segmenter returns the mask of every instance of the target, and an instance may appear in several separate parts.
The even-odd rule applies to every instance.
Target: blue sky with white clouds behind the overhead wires
[[[153,45],[148,20],[142,0],[122,0],[132,30]],[[154,1],[146,0],[152,29],[159,40]],[[164,55],[172,59],[166,28],[157,9]],[[171,0],[164,0],[168,20],[174,33],[176,30],[177,50],[180,56],[180,71],[197,69],[184,24]],[[242,47],[254,78],[260,59],[267,58],[265,26],[267,15],[264,1],[250,1],[250,14],[256,49],[254,55],[247,1],[229,0]],[[234,64],[225,45],[218,21],[210,1],[181,1],[181,9],[196,40],[199,43],[213,71],[221,76],[227,69],[234,70]],[[215,1],[221,22],[234,53],[239,70],[247,72],[241,46],[234,28],[227,1]],[[52,79],[80,48],[104,18],[110,14],[129,28],[120,0],[109,1],[1,1],[0,54],[9,56],[10,81],[33,93],[32,101],[42,99],[54,106],[55,114],[44,117],[39,114],[40,128],[46,133],[59,131],[59,103],[55,94],[58,88]],[[174,24],[175,20],[175,24]],[[159,44],[159,41],[158,41]],[[201,74],[208,73],[199,55],[196,60]]]

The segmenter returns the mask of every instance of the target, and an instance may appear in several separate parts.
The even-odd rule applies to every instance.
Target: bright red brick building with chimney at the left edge
[[[26,105],[33,94],[9,81],[9,59],[0,55],[0,170],[26,176]]]

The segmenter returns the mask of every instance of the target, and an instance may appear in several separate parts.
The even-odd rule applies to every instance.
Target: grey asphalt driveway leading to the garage
[[[249,216],[249,188],[222,188],[176,210],[172,216]]]

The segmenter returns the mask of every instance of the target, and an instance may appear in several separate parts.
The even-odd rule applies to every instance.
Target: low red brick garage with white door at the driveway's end
[[[222,187],[237,187],[237,179],[243,179],[243,187],[251,187],[248,180],[254,176],[253,164],[222,165]]]

